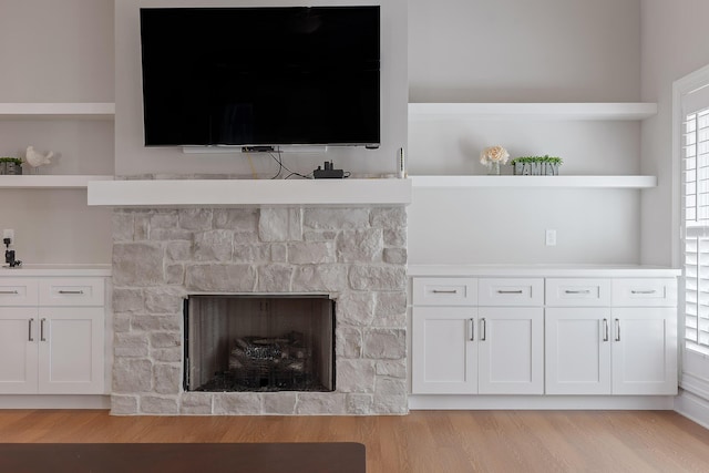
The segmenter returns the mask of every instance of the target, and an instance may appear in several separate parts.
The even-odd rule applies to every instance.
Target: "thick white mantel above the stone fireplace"
[[[88,202],[109,207],[387,206],[411,203],[411,179],[92,181]]]

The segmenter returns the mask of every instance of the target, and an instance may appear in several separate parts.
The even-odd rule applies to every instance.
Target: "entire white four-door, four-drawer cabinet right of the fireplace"
[[[677,393],[675,277],[411,284],[411,392]]]

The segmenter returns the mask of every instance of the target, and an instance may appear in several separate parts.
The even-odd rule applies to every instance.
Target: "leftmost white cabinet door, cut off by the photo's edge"
[[[37,308],[0,308],[0,393],[37,393]]]

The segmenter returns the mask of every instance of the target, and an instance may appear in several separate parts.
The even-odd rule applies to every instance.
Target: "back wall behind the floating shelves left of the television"
[[[1,0],[0,102],[113,102],[113,0]],[[113,123],[0,120],[0,155],[56,153],[42,174],[112,174]],[[0,189],[24,263],[110,263],[111,210],[79,189]]]

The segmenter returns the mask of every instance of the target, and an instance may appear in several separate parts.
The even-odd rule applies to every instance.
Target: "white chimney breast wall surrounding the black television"
[[[354,174],[393,173],[398,150],[407,145],[407,1],[405,0],[121,0],[115,2],[116,28],[116,144],[117,175],[140,174],[251,174],[248,157],[242,153],[185,155],[179,148],[143,146],[141,7],[239,7],[239,6],[381,4],[381,147],[330,148],[327,153],[284,154],[284,163],[301,174],[310,173],[323,161]],[[258,41],[255,38],[254,41]],[[274,161],[250,155],[254,168],[263,176],[277,171]]]

